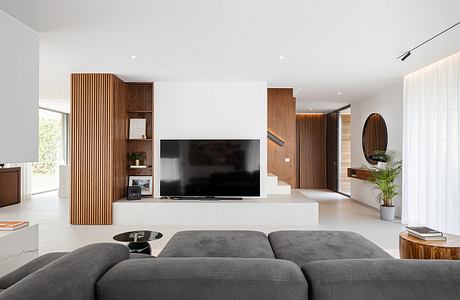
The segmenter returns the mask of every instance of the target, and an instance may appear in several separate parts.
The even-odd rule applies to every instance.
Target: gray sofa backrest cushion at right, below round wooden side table
[[[459,299],[460,261],[350,259],[302,266],[309,299]]]

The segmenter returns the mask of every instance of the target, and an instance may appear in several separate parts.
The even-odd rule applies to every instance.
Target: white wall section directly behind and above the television
[[[159,197],[160,139],[259,139],[266,197],[267,83],[155,82],[154,191]]]

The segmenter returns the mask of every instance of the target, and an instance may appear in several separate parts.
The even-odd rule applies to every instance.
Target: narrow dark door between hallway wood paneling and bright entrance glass
[[[326,115],[326,176],[327,188],[338,191],[338,141],[339,112]]]

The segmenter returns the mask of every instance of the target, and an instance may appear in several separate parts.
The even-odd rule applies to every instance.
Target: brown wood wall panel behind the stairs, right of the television
[[[295,98],[292,88],[269,88],[267,90],[268,129],[286,143],[280,146],[267,141],[268,173],[296,186],[296,125]],[[289,158],[289,162],[285,159]]]

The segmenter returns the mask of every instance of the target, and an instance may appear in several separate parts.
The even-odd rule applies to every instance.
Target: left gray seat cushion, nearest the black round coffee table
[[[258,231],[180,231],[158,257],[274,258],[267,235]]]

